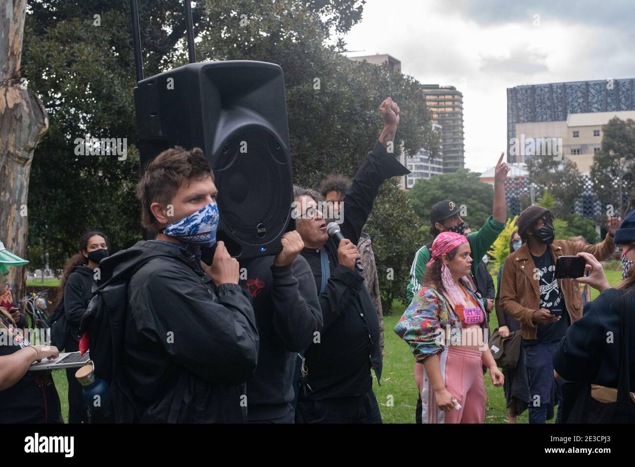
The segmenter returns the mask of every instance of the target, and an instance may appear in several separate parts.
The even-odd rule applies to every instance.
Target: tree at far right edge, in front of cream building
[[[635,121],[613,117],[602,127],[602,147],[593,155],[590,173],[599,199],[611,204],[616,216],[625,216],[635,206],[634,161]],[[620,178],[624,203],[620,203]]]

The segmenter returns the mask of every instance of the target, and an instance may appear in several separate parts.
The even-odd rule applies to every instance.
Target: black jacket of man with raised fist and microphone
[[[357,245],[379,187],[387,178],[408,173],[377,141],[344,196],[342,235]],[[364,278],[357,270],[338,263],[334,239],[329,238],[324,248],[331,272],[326,290],[319,294],[324,326],[319,343],[312,343],[305,353],[311,391],[304,396],[300,390],[300,397],[312,400],[362,395],[372,389],[371,368],[378,381],[382,374],[377,310]],[[302,256],[309,261],[319,291],[319,250],[304,248]]]

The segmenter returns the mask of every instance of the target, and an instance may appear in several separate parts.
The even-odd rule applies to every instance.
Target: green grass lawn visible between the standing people
[[[622,271],[606,271],[609,284],[615,286],[622,279]],[[496,284],[496,277],[494,277]],[[598,291],[591,289],[591,298],[596,298]],[[393,329],[401,314],[406,309],[398,301],[392,303],[392,315],[384,316],[384,369],[382,371],[382,385],[377,386],[377,379],[373,377],[373,390],[377,395],[377,402],[384,423],[415,423],[415,407],[417,405],[417,385],[413,376],[415,358],[408,345],[401,340]],[[496,313],[490,313],[490,329],[498,327]],[[62,402],[62,415],[68,420],[69,400],[67,397],[68,383],[65,370],[53,371],[55,386]],[[487,392],[487,407],[485,423],[507,423],[507,409],[505,408],[505,394],[503,388],[495,388],[491,384],[490,373],[485,374],[485,390]],[[527,423],[527,411],[518,417],[518,423]],[[554,423],[555,418],[549,423]]]

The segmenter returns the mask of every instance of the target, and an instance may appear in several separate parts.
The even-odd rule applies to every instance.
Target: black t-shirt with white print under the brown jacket
[[[536,339],[523,339],[525,346],[534,346],[554,341],[559,341],[566,334],[571,320],[565,307],[565,297],[560,291],[556,279],[556,265],[551,257],[551,250],[545,249],[542,256],[533,256],[534,270],[538,274],[538,286],[540,287],[540,308],[546,308],[553,314],[558,314],[561,319],[551,324],[538,324]],[[554,310],[559,310],[554,312]]]

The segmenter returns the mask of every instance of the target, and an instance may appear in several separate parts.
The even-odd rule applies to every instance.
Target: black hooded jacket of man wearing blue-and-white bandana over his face
[[[216,287],[199,265],[184,247],[156,241],[100,263],[104,281],[138,268],[128,284],[122,381],[140,422],[246,421],[244,381],[258,356],[251,296],[237,284]]]

